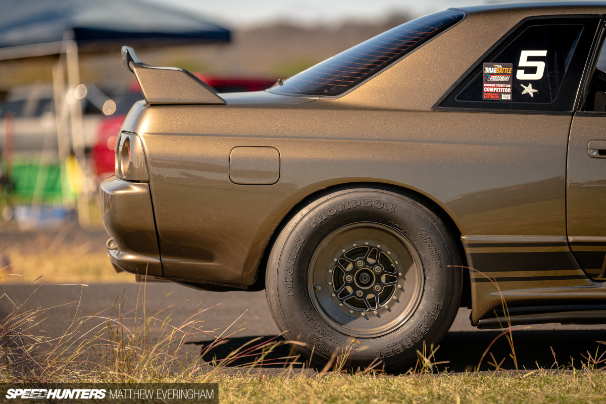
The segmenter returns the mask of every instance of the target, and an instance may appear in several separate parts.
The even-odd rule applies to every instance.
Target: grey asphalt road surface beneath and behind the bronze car
[[[0,285],[0,296],[4,294],[6,296],[0,299],[0,317],[10,311],[11,303],[6,297],[10,297],[13,302],[25,302],[22,310],[44,309],[45,319],[33,326],[31,331],[32,334],[49,338],[62,336],[70,329],[73,320],[81,317],[95,315],[97,322],[102,323],[105,320],[101,317],[116,318],[122,313],[122,317],[130,319],[134,317],[135,308],[140,316],[142,302],[145,302],[148,316],[154,315],[162,320],[170,316],[170,323],[175,326],[187,322],[199,310],[208,309],[195,316],[204,321],[204,333],[188,340],[184,346],[188,355],[199,354],[222,333],[223,336],[230,335],[228,342],[211,350],[209,357],[221,359],[233,349],[257,337],[265,341],[279,335],[267,308],[264,291],[207,292],[163,282],[147,283],[145,288],[133,283],[88,286]],[[436,353],[437,361],[448,362],[441,365],[442,369],[447,367],[456,372],[473,369],[484,351],[501,334],[501,331],[474,328],[470,325],[469,314],[468,309],[459,310],[453,326]],[[131,320],[125,320],[125,325],[130,323]],[[606,350],[606,345],[599,343],[606,341],[606,326],[547,324],[521,328],[523,329],[513,333],[519,368],[553,368],[556,360],[560,366],[570,365],[572,361],[578,366],[581,360],[585,360],[588,351],[593,354],[598,348],[600,351]],[[511,348],[504,337],[499,337],[494,342],[490,353],[498,362],[505,359],[502,363],[505,369],[514,368],[510,358]],[[284,346],[278,348],[273,355],[281,357],[287,354],[288,348]],[[481,369],[494,369],[488,362],[492,362],[490,354],[483,360]]]

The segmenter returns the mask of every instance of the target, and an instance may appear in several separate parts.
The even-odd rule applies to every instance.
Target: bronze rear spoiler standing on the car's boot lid
[[[147,104],[225,104],[215,90],[190,72],[142,64],[129,46],[122,47],[122,62],[135,73]]]

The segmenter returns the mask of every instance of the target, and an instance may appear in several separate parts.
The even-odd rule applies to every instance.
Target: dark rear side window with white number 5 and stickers
[[[439,106],[572,111],[598,21],[526,22],[474,65]]]

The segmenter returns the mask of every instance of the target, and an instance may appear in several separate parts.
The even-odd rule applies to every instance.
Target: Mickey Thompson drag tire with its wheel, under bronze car
[[[322,366],[411,365],[459,308],[461,257],[436,214],[413,196],[350,188],[295,214],[268,257],[265,293],[287,340]],[[359,343],[358,343],[359,342]]]

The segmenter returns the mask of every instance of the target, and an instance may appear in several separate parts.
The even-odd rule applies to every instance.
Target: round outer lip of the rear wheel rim
[[[351,229],[357,228],[357,227],[378,228],[380,230],[387,231],[392,236],[395,236],[397,239],[401,240],[401,242],[404,244],[404,248],[408,251],[411,258],[413,259],[413,262],[415,263],[416,271],[418,271],[418,274],[420,275],[418,282],[417,282],[418,285],[416,285],[417,290],[416,290],[415,297],[413,299],[414,302],[411,305],[409,305],[407,310],[405,310],[402,314],[400,314],[399,318],[396,317],[395,320],[392,320],[387,325],[383,326],[381,329],[379,329],[379,331],[375,331],[375,329],[372,329],[370,331],[365,331],[365,330],[360,330],[360,329],[348,328],[347,326],[344,326],[344,325],[336,322],[336,320],[332,319],[327,313],[325,313],[324,308],[322,308],[322,305],[319,303],[318,297],[316,296],[316,290],[315,290],[315,286],[314,286],[314,269],[315,269],[315,264],[319,258],[319,255],[322,253],[324,248],[333,239],[335,239],[336,236],[338,236],[339,234],[343,233],[346,230],[351,230]],[[382,224],[379,222],[371,222],[369,220],[366,220],[363,222],[353,222],[350,224],[343,225],[343,226],[337,228],[336,230],[332,231],[330,234],[328,234],[328,236],[324,237],[322,242],[318,245],[318,247],[316,247],[316,249],[313,252],[313,255],[311,257],[308,271],[307,271],[307,286],[308,286],[311,304],[314,306],[314,308],[318,312],[319,316],[321,316],[321,318],[325,322],[327,322],[329,326],[331,326],[333,329],[336,329],[336,331],[339,331],[340,333],[345,334],[347,336],[362,337],[362,338],[376,338],[376,337],[384,336],[385,334],[389,334],[389,333],[393,332],[395,329],[400,328],[409,319],[411,319],[411,317],[413,317],[416,314],[416,311],[417,311],[419,305],[421,304],[422,297],[423,297],[424,291],[425,291],[425,287],[424,287],[425,286],[425,268],[422,265],[421,256],[419,255],[418,251],[416,251],[413,243],[407,239],[405,234],[402,234],[398,230],[391,228],[385,224]],[[396,293],[398,293],[398,290],[396,290]],[[362,315],[362,316],[364,316],[364,315]]]

